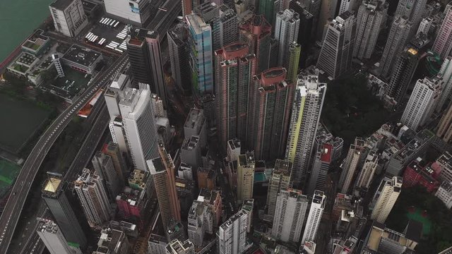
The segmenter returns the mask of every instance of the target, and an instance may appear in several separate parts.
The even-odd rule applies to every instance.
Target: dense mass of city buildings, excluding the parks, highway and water
[[[42,186],[49,252],[413,253],[422,224],[385,223],[412,186],[452,207],[452,2],[400,0],[390,17],[384,0],[182,0],[162,32],[149,24],[167,3],[103,3],[131,24],[130,64],[102,92],[111,141],[75,181],[50,173]],[[66,37],[89,26],[81,0],[49,9]],[[38,84],[52,66],[61,78],[67,67],[95,74],[104,57],[52,47],[38,30],[8,70]],[[441,66],[413,80],[422,59]],[[369,90],[401,119],[347,144],[320,121],[326,82],[368,62]]]

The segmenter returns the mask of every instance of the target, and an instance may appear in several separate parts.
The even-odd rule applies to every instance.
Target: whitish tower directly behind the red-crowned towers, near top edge
[[[275,39],[278,40],[278,66],[284,66],[285,61],[290,58],[290,43],[297,42],[298,32],[298,13],[292,9],[285,9],[276,14]]]

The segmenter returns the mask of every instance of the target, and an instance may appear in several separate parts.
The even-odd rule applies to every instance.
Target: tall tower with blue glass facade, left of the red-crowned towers
[[[196,14],[185,16],[189,25],[191,85],[194,95],[213,92],[212,28]]]

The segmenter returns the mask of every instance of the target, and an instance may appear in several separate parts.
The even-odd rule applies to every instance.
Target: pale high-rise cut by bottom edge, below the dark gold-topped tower
[[[81,250],[77,247],[69,246],[59,229],[59,226],[49,219],[39,219],[37,226],[37,234],[42,242],[49,250],[50,254],[81,254]]]

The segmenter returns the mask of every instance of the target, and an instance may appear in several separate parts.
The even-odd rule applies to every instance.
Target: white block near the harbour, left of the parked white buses
[[[76,37],[88,25],[81,0],[57,0],[49,9],[55,30],[67,37]]]

